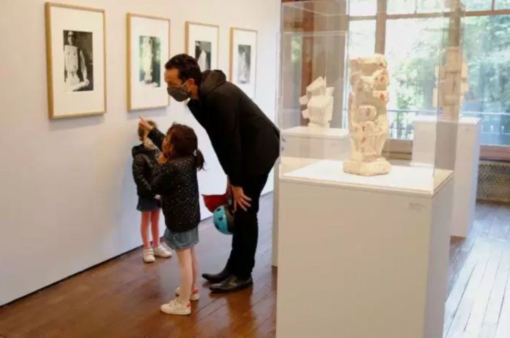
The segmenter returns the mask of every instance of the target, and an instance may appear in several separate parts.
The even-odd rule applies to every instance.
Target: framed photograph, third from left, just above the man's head
[[[219,27],[186,22],[186,54],[194,56],[202,71],[218,69]]]

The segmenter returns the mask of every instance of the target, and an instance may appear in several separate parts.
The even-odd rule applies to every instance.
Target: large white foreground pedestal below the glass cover
[[[452,171],[320,161],[279,183],[277,338],[442,337]]]

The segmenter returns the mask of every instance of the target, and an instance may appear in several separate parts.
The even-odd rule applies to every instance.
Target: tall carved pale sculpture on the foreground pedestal
[[[388,174],[391,164],[381,157],[388,138],[388,63],[381,54],[349,60],[349,136],[351,155],[344,171],[361,176]]]

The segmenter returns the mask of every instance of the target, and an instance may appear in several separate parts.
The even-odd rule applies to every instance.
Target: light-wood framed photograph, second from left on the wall
[[[128,110],[168,106],[164,72],[169,49],[170,20],[127,14]]]

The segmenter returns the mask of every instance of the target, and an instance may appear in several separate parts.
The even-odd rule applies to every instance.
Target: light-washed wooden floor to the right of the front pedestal
[[[453,239],[444,337],[510,338],[510,207],[479,203],[466,240]]]

